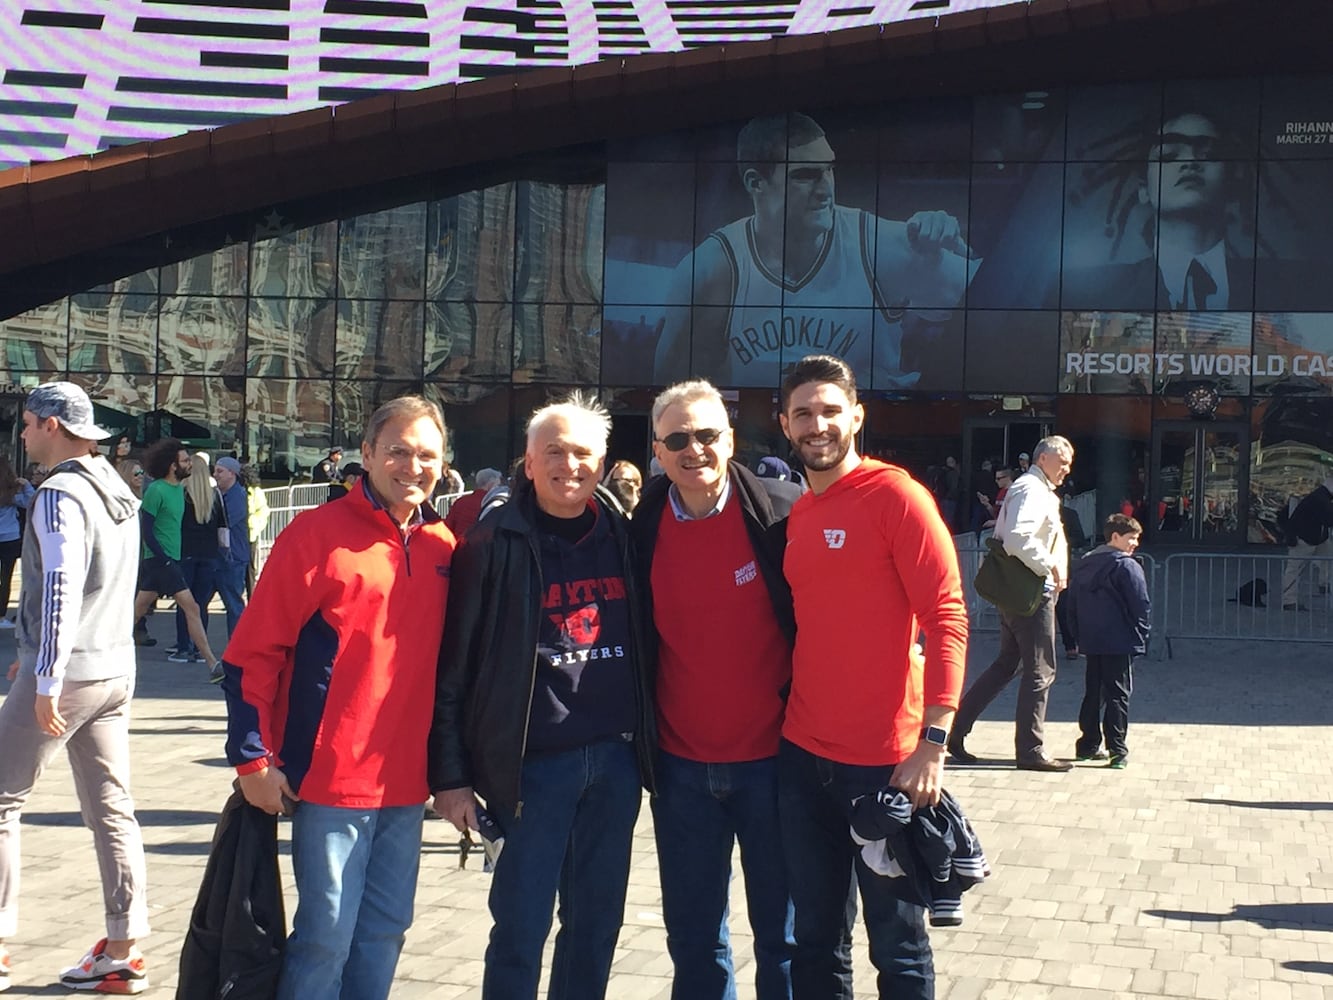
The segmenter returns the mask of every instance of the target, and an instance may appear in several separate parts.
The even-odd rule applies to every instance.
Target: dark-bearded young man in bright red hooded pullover
[[[852,803],[885,785],[914,807],[940,799],[968,648],[957,553],[924,485],[856,453],[865,412],[844,360],[798,361],[782,381],[780,420],[810,483],[792,508],[784,563],[796,609],[778,751],[792,993],[850,1000],[844,915],[854,871],[880,996],[932,1000],[924,909],[865,867],[849,823]],[[924,659],[913,648],[922,629]]]

